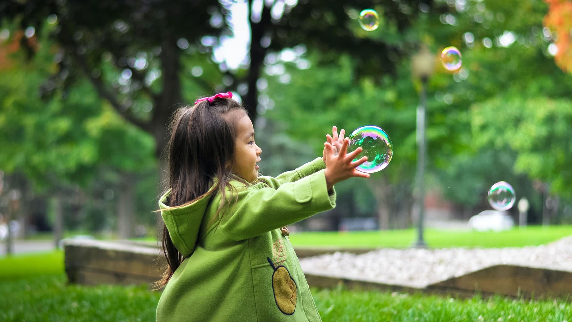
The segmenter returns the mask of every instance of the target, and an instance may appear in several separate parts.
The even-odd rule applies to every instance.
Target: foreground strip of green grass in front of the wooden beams
[[[138,286],[66,284],[63,274],[0,282],[0,321],[154,321],[160,292]],[[312,289],[327,321],[542,321],[571,320],[564,300],[491,297],[462,300],[343,288]]]

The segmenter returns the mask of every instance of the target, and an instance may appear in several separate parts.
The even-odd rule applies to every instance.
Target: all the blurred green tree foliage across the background
[[[273,3],[276,11],[279,2]],[[348,133],[362,125],[379,125],[394,143],[394,156],[367,182],[370,187],[383,183],[391,189],[364,191],[368,190],[364,180],[346,182],[339,187],[339,205],[358,201],[364,213],[374,213],[383,202],[393,203],[395,215],[398,206],[410,207],[420,89],[419,81],[411,77],[410,56],[418,50],[416,44],[425,42],[435,54],[454,45],[463,55],[458,72],[444,70],[435,60],[436,72],[428,84],[428,186],[440,186],[435,189],[447,199],[469,209],[488,207],[486,191],[498,180],[513,184],[517,196],[531,200],[534,211],[542,206],[541,195],[532,187],[534,180],[550,182],[552,192],[561,197],[572,196],[565,158],[572,142],[566,126],[572,77],[558,69],[547,50],[554,39],[543,30],[547,12],[543,1],[467,1],[457,7],[443,0],[374,1],[367,5],[380,14],[380,27],[374,32],[359,28],[356,17],[364,7],[360,1],[333,6],[330,1],[299,2],[285,6],[284,13],[272,19],[269,7],[250,7],[252,37],[268,37],[269,46],[251,41],[251,60],[232,69],[211,55],[223,39],[215,36],[227,37],[227,28],[232,28],[226,25],[226,18],[232,18],[228,3],[196,3],[182,10],[179,3],[167,2],[153,7],[122,1],[6,6],[9,28],[35,26],[34,38],[41,46],[30,63],[18,53],[14,66],[2,70],[0,144],[8,152],[0,155],[0,168],[21,170],[44,187],[54,178],[89,183],[100,195],[105,190],[100,187],[117,183],[116,172],[139,172],[145,176],[137,196],[138,205],[146,205],[140,210],[144,213],[156,197],[149,193],[156,188],[149,179],[154,162],[150,155],[154,147],[161,150],[166,133],[162,127],[174,104],[221,89],[221,83],[255,100],[256,95],[249,93],[263,76],[259,68],[264,70],[265,64],[268,73],[281,65],[285,74],[263,76],[268,80],[268,87],[259,87],[263,97],[247,102],[254,109],[259,103],[257,111],[267,123],[265,129],[256,125],[257,134],[268,136],[260,139],[267,142],[262,143],[264,174],[276,175],[321,155],[331,125]],[[73,16],[64,21],[65,10]],[[106,15],[89,18],[97,12]],[[57,22],[47,24],[48,14],[56,14]],[[221,23],[215,23],[217,18]],[[150,27],[148,21],[156,23]],[[212,41],[201,44],[205,35],[213,36]],[[514,37],[514,42],[503,37]],[[189,42],[188,48],[176,45],[180,38]],[[292,49],[296,58],[277,58],[284,48]],[[54,54],[55,61],[61,61],[54,63]],[[78,59],[82,57],[87,67]],[[129,63],[143,58],[144,68]],[[173,61],[176,66],[169,65]],[[193,76],[192,68],[199,66],[202,74]],[[124,69],[133,76],[120,84],[118,76]],[[54,73],[57,77],[50,78]],[[49,78],[53,82],[43,83]],[[179,78],[180,86],[170,83]],[[117,95],[117,104],[103,103],[92,86],[98,81]],[[73,86],[62,92],[61,82]],[[45,92],[42,84],[53,89],[51,99],[35,99],[39,88]],[[272,104],[265,103],[269,101]],[[132,127],[118,114],[146,126]],[[94,167],[102,169],[93,171]],[[87,213],[102,211],[101,201],[107,201],[98,199]]]

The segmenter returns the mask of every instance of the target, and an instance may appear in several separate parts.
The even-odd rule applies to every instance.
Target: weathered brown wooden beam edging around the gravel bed
[[[155,242],[98,241],[68,239],[64,241],[65,270],[70,282],[79,284],[141,284],[157,281],[164,258]],[[370,251],[357,249],[363,253]],[[350,249],[323,249],[323,252],[349,252]],[[298,252],[298,250],[296,250]],[[307,253],[306,253],[307,254]],[[320,253],[324,254],[324,253]],[[304,257],[304,253],[299,257]],[[501,294],[507,297],[542,298],[572,296],[572,270],[555,270],[517,265],[494,265],[451,277],[431,285],[404,285],[304,272],[310,286],[377,289],[407,293],[455,294],[472,297]]]

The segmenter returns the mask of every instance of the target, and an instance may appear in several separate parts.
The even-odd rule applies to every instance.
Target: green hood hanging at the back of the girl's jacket
[[[170,193],[171,190],[169,189],[159,200],[161,217],[169,230],[173,245],[183,257],[187,257],[194,252],[194,248],[197,246],[198,231],[212,195],[206,195],[184,207],[168,209],[165,203]]]

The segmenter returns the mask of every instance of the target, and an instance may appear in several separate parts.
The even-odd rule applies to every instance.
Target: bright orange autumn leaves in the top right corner
[[[572,73],[572,1],[544,0],[548,4],[548,13],[544,25],[554,30],[558,38],[554,44],[558,48],[554,61],[564,72]]]

